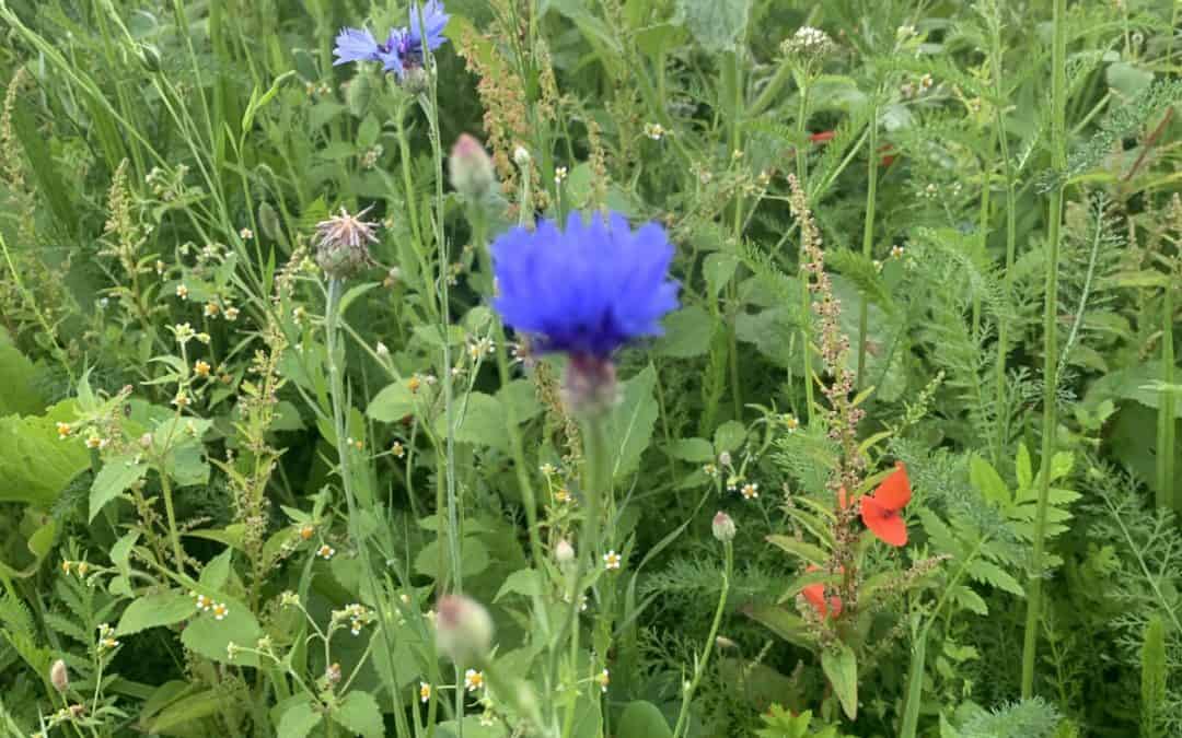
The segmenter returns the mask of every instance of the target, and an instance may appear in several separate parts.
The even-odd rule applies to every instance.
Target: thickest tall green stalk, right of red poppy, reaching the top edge
[[[1066,0],[1054,0],[1054,40],[1051,50],[1051,165],[1056,171],[1067,166],[1066,94],[1067,28]],[[1063,221],[1063,185],[1051,192],[1047,217],[1050,229],[1046,248],[1045,309],[1043,312],[1043,461],[1039,476],[1038,508],[1034,515],[1034,550],[1026,586],[1026,632],[1022,638],[1021,697],[1034,692],[1034,662],[1038,655],[1038,631],[1043,607],[1043,576],[1046,549],[1046,512],[1051,491],[1051,458],[1054,456],[1056,397],[1058,388],[1058,312],[1059,312],[1059,237]]]

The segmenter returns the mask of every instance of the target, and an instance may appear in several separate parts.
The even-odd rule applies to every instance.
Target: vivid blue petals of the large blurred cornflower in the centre
[[[541,351],[606,361],[626,341],[660,335],[661,319],[677,307],[669,279],[674,248],[664,229],[635,231],[624,216],[571,214],[566,229],[541,221],[514,228],[492,246],[505,324],[538,337]]]

